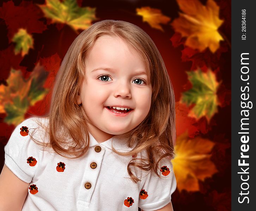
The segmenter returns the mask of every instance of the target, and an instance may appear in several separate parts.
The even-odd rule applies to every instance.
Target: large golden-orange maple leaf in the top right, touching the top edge
[[[223,20],[219,19],[217,4],[214,0],[208,0],[206,6],[199,0],[189,1],[189,4],[186,0],[177,2],[183,13],[179,13],[172,26],[182,37],[187,37],[185,45],[199,51],[209,47],[214,53],[219,48],[219,41],[223,40],[218,32]]]

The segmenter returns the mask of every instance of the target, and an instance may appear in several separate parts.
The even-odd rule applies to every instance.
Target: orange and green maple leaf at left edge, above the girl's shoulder
[[[28,79],[21,71],[11,70],[7,86],[0,85],[0,113],[6,113],[5,122],[17,125],[24,120],[30,106],[40,101],[48,90],[43,88],[48,73],[37,66]]]

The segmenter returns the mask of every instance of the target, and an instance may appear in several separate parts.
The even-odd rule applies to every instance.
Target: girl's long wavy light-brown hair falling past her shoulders
[[[142,56],[152,85],[148,115],[136,128],[123,134],[127,146],[133,147],[133,150],[121,153],[113,148],[119,155],[132,155],[145,150],[145,158],[135,157],[127,166],[130,178],[136,183],[140,179],[133,174],[132,166],[144,171],[153,169],[158,175],[160,160],[171,160],[174,157],[173,142],[176,139],[176,129],[175,97],[164,61],[153,40],[134,24],[119,20],[99,21],[73,41],[57,74],[48,115],[49,124],[46,127],[49,136],[49,143],[46,145],[66,158],[79,158],[87,152],[89,127],[84,109],[77,103],[77,97],[85,78],[86,56],[97,38],[103,35],[122,38]],[[68,141],[74,147],[64,148],[63,143]]]

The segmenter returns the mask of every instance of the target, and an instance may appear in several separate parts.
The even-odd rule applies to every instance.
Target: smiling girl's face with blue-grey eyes
[[[126,133],[145,119],[152,86],[141,56],[121,38],[99,37],[87,55],[85,72],[78,103],[97,141]]]

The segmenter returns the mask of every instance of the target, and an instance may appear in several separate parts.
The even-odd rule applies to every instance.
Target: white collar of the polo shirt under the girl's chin
[[[98,143],[98,141],[96,141],[96,139],[91,135],[91,133],[89,133],[89,136],[90,136],[90,147],[96,146],[96,145],[99,145],[99,146],[103,145],[112,150],[112,147],[111,147],[111,143],[112,143],[113,147],[120,152],[128,152],[133,149],[126,145],[125,140],[121,139],[120,135],[114,135],[112,138],[102,143]]]

